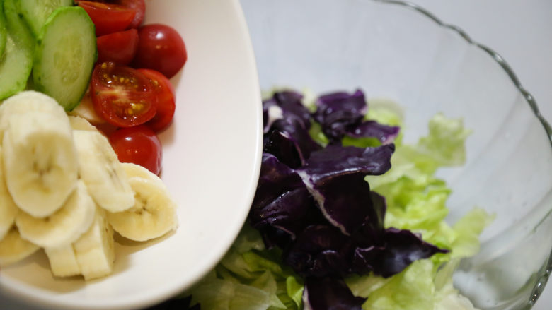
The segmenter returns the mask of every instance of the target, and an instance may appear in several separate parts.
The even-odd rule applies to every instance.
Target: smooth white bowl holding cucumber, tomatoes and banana
[[[173,78],[177,108],[163,142],[162,179],[178,202],[176,233],[116,244],[113,275],[54,278],[45,254],[3,268],[0,308],[130,309],[161,302],[205,275],[243,225],[260,169],[262,114],[253,49],[231,1],[146,1],[145,23],[185,40],[188,63]]]

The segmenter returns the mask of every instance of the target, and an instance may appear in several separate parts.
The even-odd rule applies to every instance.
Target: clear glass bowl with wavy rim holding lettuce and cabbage
[[[261,88],[362,88],[404,109],[405,141],[437,112],[473,133],[466,165],[442,169],[447,221],[495,215],[454,284],[480,309],[529,309],[550,272],[552,130],[492,49],[423,8],[386,0],[241,0]]]

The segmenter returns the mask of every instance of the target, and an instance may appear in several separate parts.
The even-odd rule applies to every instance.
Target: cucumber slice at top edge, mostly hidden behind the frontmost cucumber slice
[[[33,35],[38,36],[48,16],[60,6],[72,6],[73,0],[18,0],[21,14]]]

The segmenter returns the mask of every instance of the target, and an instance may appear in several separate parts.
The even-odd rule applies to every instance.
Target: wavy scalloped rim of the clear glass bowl
[[[430,11],[427,11],[422,6],[419,6],[418,4],[414,4],[412,2],[408,1],[400,1],[400,0],[372,0],[374,2],[380,2],[384,4],[393,4],[398,6],[406,6],[407,8],[413,9],[414,11],[417,11],[418,13],[421,13],[422,15],[426,16],[427,18],[430,18],[430,20],[433,20],[437,25],[439,25],[442,28],[447,28],[450,30],[453,30],[458,34],[460,37],[462,37],[468,44],[471,44],[475,47],[478,47],[479,49],[483,50],[483,52],[487,53],[491,58],[493,58],[505,71],[507,76],[510,77],[512,80],[512,83],[514,83],[515,87],[519,90],[519,93],[522,94],[524,97],[524,100],[527,102],[529,107],[531,107],[531,110],[533,111],[535,117],[539,119],[541,122],[544,131],[546,131],[546,135],[548,136],[548,141],[551,144],[552,148],[552,127],[550,124],[548,124],[548,121],[542,116],[539,105],[537,105],[535,98],[531,93],[529,93],[528,90],[524,88],[522,83],[517,78],[516,74],[514,73],[514,70],[510,65],[507,63],[507,61],[498,54],[498,52],[495,52],[490,47],[487,47],[485,44],[481,44],[479,42],[474,41],[471,39],[471,37],[461,28],[459,28],[456,25],[452,25],[449,23],[445,23],[441,19],[439,19],[435,14],[431,13]],[[549,215],[548,215],[549,216]],[[548,255],[548,261],[544,264],[543,268],[541,268],[542,273],[538,277],[538,281],[533,287],[533,290],[531,292],[531,296],[529,297],[529,300],[527,300],[527,304],[523,309],[531,309],[532,306],[534,306],[537,299],[539,299],[539,296],[544,291],[544,287],[546,287],[546,282],[548,281],[548,278],[550,274],[552,273],[552,249],[551,253]]]

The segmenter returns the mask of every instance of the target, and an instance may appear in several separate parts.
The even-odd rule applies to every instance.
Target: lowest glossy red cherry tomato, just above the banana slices
[[[154,174],[161,172],[161,141],[147,126],[117,129],[109,136],[109,142],[120,162],[132,162]]]

